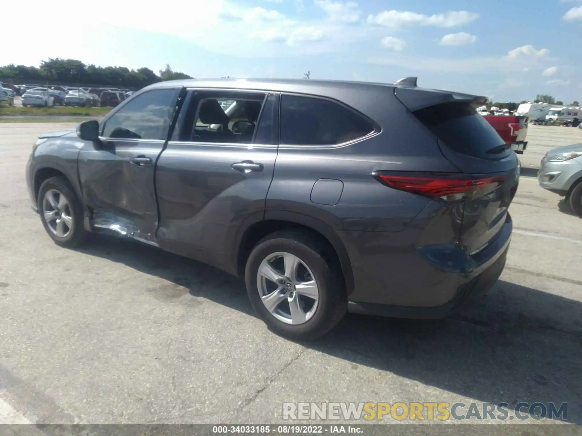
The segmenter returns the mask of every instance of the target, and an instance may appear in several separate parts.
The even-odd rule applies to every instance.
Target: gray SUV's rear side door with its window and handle
[[[226,269],[233,235],[264,217],[278,99],[259,91],[189,91],[156,170],[162,248]]]

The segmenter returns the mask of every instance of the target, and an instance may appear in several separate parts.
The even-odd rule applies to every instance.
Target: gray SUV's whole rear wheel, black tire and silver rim
[[[249,299],[276,333],[315,339],[342,319],[347,297],[341,270],[327,247],[303,231],[281,231],[260,241],[246,267]]]

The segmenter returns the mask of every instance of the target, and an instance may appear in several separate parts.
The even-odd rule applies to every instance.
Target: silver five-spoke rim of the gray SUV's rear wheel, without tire
[[[263,259],[257,287],[265,308],[283,323],[306,323],[317,310],[320,292],[314,275],[291,253],[276,252]]]

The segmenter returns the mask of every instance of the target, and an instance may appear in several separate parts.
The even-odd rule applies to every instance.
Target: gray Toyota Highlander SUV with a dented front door
[[[109,233],[244,277],[286,337],[347,310],[435,319],[505,265],[519,165],[485,101],[410,77],[165,81],[41,135],[26,180],[56,244]]]

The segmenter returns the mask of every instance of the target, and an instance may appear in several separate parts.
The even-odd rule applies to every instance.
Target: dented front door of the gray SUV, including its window
[[[164,149],[179,92],[164,88],[136,95],[104,120],[101,144],[81,148],[81,191],[95,227],[154,241],[155,162]]]

